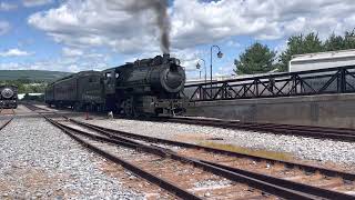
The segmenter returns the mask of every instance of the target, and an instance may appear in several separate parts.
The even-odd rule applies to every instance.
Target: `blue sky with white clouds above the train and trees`
[[[152,2],[160,0],[149,0]],[[146,1],[145,1],[146,2]],[[161,53],[156,13],[132,11],[139,0],[0,0],[0,69],[80,71],[105,69]],[[171,53],[187,78],[199,58],[215,76],[231,74],[233,61],[255,41],[278,52],[292,34],[321,38],[355,27],[352,0],[170,0]]]

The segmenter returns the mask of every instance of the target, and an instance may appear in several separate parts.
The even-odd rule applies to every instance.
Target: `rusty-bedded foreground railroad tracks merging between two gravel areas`
[[[305,166],[295,162],[265,159],[255,156],[247,156],[197,144],[171,141],[141,134],[133,134],[129,132],[101,128],[98,126],[67,118],[67,120],[75,123],[77,126],[81,126],[84,129],[88,129],[88,131],[95,131],[95,133],[92,134],[88,131],[82,131],[74,129],[70,126],[65,126],[50,118],[47,119],[58,128],[62,129],[70,137],[82,143],[84,147],[98,152],[99,154],[105,157],[111,161],[120,163],[121,166],[133,171],[140,177],[151,182],[154,182],[163,189],[166,189],[168,191],[175,193],[178,197],[184,199],[199,199],[205,197],[201,197],[199,192],[192,193],[191,191],[193,190],[191,188],[190,190],[189,188],[186,188],[186,184],[191,186],[192,183],[175,186],[176,180],[161,180],[160,177],[158,177],[156,174],[152,174],[146,169],[142,169],[142,162],[150,163],[152,162],[152,160],[149,160],[150,158],[155,158],[156,160],[156,157],[161,157],[164,160],[170,159],[174,160],[175,162],[179,161],[182,164],[187,163],[189,166],[197,167],[199,169],[203,170],[203,173],[205,173],[205,176],[207,173],[211,177],[211,173],[213,173],[214,176],[220,177],[219,179],[229,179],[230,181],[232,181],[231,184],[234,187],[234,189],[239,189],[232,190],[234,192],[236,191],[236,193],[227,193],[232,197],[230,199],[235,199],[235,197],[243,193],[243,191],[245,193],[245,189],[248,192],[246,192],[245,197],[243,198],[355,198],[354,196],[345,193],[346,191],[355,191],[354,173],[347,173],[343,171],[336,171],[332,169],[318,168],[313,166]],[[134,157],[131,156],[128,157],[130,160],[141,160],[140,162],[136,161],[141,166],[136,166],[136,163],[132,164],[111,154],[110,152],[105,152],[102,149],[95,147],[90,141],[88,141],[88,138],[94,140],[95,142],[116,144],[120,147],[139,150],[138,152],[144,152],[148,154],[140,154],[136,159],[134,159]],[[175,152],[174,150],[176,150],[176,147],[178,151]],[[143,166],[146,167],[146,164]],[[176,167],[176,163],[173,164],[172,161],[169,161],[163,166]],[[171,174],[172,171],[173,170],[168,171],[168,174]],[[191,178],[191,174],[189,174],[187,177]],[[256,190],[250,192],[250,190],[247,189],[247,187],[245,188],[245,186],[248,186]],[[209,198],[220,198],[219,196],[215,196],[217,193],[217,191],[211,191],[211,197]],[[265,196],[265,193],[267,194]]]

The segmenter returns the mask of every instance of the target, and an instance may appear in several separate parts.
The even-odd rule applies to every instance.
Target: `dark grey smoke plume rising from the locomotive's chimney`
[[[153,10],[156,14],[156,26],[160,30],[160,49],[163,54],[170,53],[170,19],[168,0],[132,0],[126,9],[132,12]]]

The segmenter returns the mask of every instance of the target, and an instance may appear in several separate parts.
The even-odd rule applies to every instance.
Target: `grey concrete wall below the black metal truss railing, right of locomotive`
[[[196,102],[189,116],[241,121],[355,128],[355,94]]]

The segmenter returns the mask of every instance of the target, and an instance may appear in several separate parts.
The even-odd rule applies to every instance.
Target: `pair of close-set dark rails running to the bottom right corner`
[[[143,150],[149,153],[153,153],[160,157],[169,157],[171,159],[182,161],[182,162],[189,162],[197,168],[202,168],[205,171],[210,171],[214,174],[222,176],[224,178],[227,178],[230,180],[246,183],[250,187],[260,189],[262,191],[265,191],[267,193],[272,193],[282,198],[297,198],[297,199],[318,199],[318,198],[341,198],[341,199],[353,199],[354,196],[348,196],[346,193],[326,190],[322,188],[312,187],[308,184],[303,184],[294,181],[283,180],[270,176],[264,176],[256,172],[245,171],[241,169],[232,168],[232,170],[227,170],[225,168],[217,167],[214,163],[209,163],[204,160],[199,160],[194,158],[187,158],[179,156],[178,153],[160,148],[160,147],[152,147],[146,146],[126,138],[113,136],[110,133],[106,133],[106,137],[100,137],[97,134],[87,133],[84,131],[77,130],[74,128],[65,126],[65,128],[75,130],[78,133],[83,134],[85,137],[89,137],[91,139],[95,139],[99,141],[110,142],[119,146],[124,146],[128,148],[133,148],[138,150]],[[305,190],[306,192],[304,192]]]

